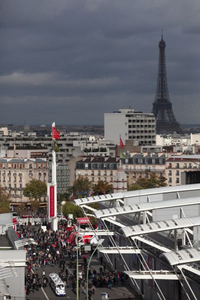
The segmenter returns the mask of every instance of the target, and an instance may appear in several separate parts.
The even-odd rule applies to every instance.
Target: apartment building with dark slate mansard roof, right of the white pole
[[[99,181],[113,184],[119,165],[119,158],[114,157],[84,157],[76,162],[75,178],[84,176],[92,184]]]

